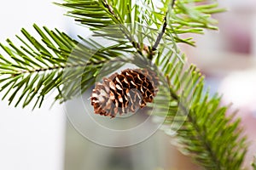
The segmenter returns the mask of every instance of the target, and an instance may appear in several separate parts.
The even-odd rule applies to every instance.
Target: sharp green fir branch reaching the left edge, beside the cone
[[[25,37],[18,37],[22,45],[15,46],[9,39],[9,46],[0,46],[9,56],[0,54],[0,91],[3,99],[9,96],[9,104],[25,107],[37,98],[34,107],[41,106],[44,96],[54,89],[61,89],[55,96],[63,102],[78,95],[80,88],[74,82],[82,83],[84,92],[96,79],[96,72],[111,58],[118,57],[122,42],[103,47],[89,39],[83,43],[55,30],[44,30],[34,25],[41,42],[32,37],[25,29]],[[123,53],[123,50],[122,50]],[[60,90],[59,90],[60,91]],[[11,94],[13,93],[13,94]]]

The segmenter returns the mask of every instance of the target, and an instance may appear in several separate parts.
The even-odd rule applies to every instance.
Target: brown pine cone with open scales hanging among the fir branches
[[[143,108],[153,102],[157,92],[158,77],[146,69],[126,69],[121,74],[103,78],[92,90],[91,105],[96,114],[115,117]]]

